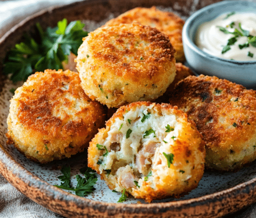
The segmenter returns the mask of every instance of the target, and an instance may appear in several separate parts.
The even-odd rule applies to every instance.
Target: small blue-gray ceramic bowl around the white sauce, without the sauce
[[[194,42],[200,24],[232,11],[256,13],[256,2],[221,1],[196,11],[186,20],[182,31],[186,61],[189,67],[198,74],[217,76],[241,84],[246,88],[256,88],[256,61],[218,58],[202,51]]]

